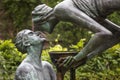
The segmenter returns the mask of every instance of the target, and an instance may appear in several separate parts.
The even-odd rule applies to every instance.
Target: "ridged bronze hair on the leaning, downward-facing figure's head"
[[[46,22],[46,17],[49,17],[52,14],[52,8],[46,4],[38,5],[32,11],[32,21],[34,23],[43,23]],[[44,20],[45,19],[45,20]]]

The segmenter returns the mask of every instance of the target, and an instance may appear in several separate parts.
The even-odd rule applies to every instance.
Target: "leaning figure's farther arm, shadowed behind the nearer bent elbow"
[[[105,51],[106,49],[118,44],[120,42],[120,26],[111,22],[108,19],[105,19],[105,21],[101,22],[101,25],[105,26],[106,28],[108,28],[111,32],[113,32],[113,36],[106,40],[106,42],[104,44],[102,44],[100,47],[98,47],[96,50],[92,51],[91,53],[89,53],[87,56],[88,58],[92,58],[93,56],[95,56],[98,53],[101,53],[103,51]]]

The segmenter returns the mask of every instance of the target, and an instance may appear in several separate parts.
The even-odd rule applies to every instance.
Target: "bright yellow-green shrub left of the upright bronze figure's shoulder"
[[[12,40],[0,40],[0,80],[13,80],[18,65],[25,54],[20,53]]]

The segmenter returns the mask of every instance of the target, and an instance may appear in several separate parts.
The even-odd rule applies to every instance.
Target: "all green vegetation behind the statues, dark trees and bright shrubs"
[[[32,29],[31,12],[40,3],[54,7],[63,0],[0,0],[0,80],[13,80],[18,65],[25,58],[14,46],[16,33],[22,29]],[[108,18],[120,25],[120,12],[115,12]],[[60,22],[49,35],[50,49],[43,51],[43,60],[49,62],[47,54],[51,49],[71,48],[80,50],[92,35],[92,32],[79,26]],[[85,39],[86,41],[81,41]],[[69,80],[69,73],[65,80]],[[77,69],[76,80],[119,80],[120,79],[120,45],[96,56],[86,65]]]

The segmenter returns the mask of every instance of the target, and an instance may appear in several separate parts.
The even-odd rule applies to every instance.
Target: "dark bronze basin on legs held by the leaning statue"
[[[66,72],[65,70],[59,67],[59,60],[64,60],[68,56],[75,56],[78,52],[75,51],[51,51],[49,52],[50,58],[53,64],[56,66],[57,69],[57,80],[64,80],[64,75]],[[61,61],[61,60],[60,60]],[[61,62],[62,63],[62,62]],[[73,66],[70,68],[70,80],[75,80],[75,70],[77,67],[81,65],[81,63],[77,62],[77,66]]]

